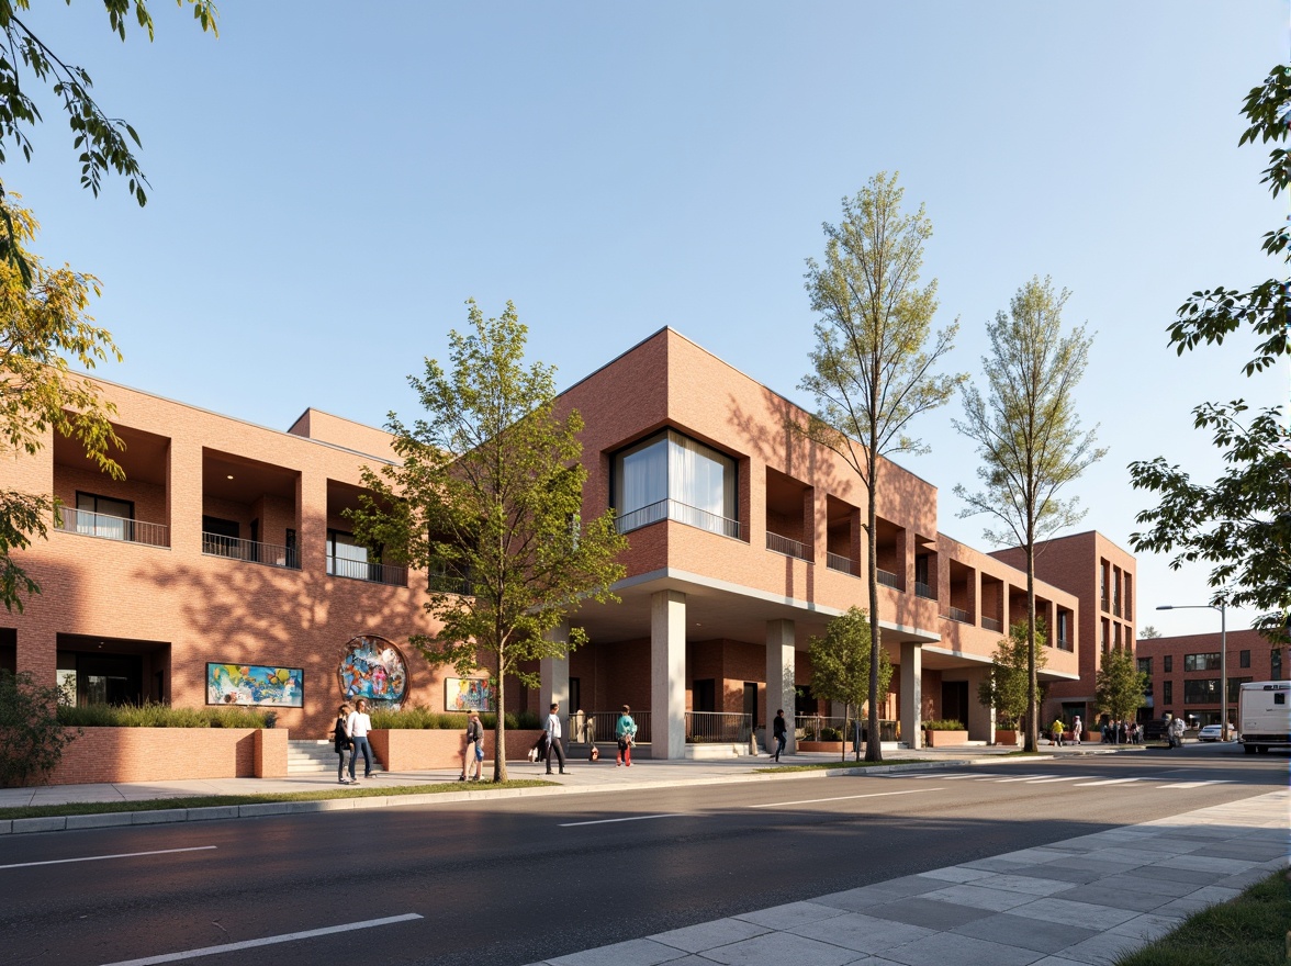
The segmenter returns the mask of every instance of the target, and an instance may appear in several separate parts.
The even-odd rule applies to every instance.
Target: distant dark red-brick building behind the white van
[[[1230,630],[1228,719],[1237,722],[1237,696],[1247,681],[1282,681],[1283,648],[1255,630]],[[1220,633],[1144,638],[1135,655],[1152,682],[1139,719],[1186,715],[1192,724],[1220,724]]]

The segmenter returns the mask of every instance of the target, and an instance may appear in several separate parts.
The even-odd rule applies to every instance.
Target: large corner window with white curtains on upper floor
[[[615,457],[615,510],[620,532],[674,519],[738,536],[735,460],[666,430]]]

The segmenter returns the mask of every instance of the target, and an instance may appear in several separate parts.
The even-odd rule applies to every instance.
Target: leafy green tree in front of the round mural
[[[494,678],[493,780],[505,781],[507,678],[537,687],[522,664],[586,641],[581,628],[556,632],[585,599],[617,602],[615,558],[627,541],[611,510],[582,513],[582,417],[556,413],[554,369],[525,367],[515,306],[488,320],[467,306],[474,332],[448,333],[452,372],[426,359],[425,375],[409,376],[425,416],[408,426],[390,413],[402,462],[365,468],[371,495],[351,517],[363,544],[431,575],[425,610],[440,630],[413,635],[413,647]]]

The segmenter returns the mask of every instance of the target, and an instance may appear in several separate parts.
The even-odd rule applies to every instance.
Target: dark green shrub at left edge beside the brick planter
[[[68,700],[65,688],[37,684],[27,672],[0,670],[0,786],[28,785],[58,766],[80,735],[58,719]]]

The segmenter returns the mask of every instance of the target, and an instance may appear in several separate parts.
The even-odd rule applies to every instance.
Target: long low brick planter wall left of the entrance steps
[[[50,785],[281,777],[285,728],[83,728]]]

